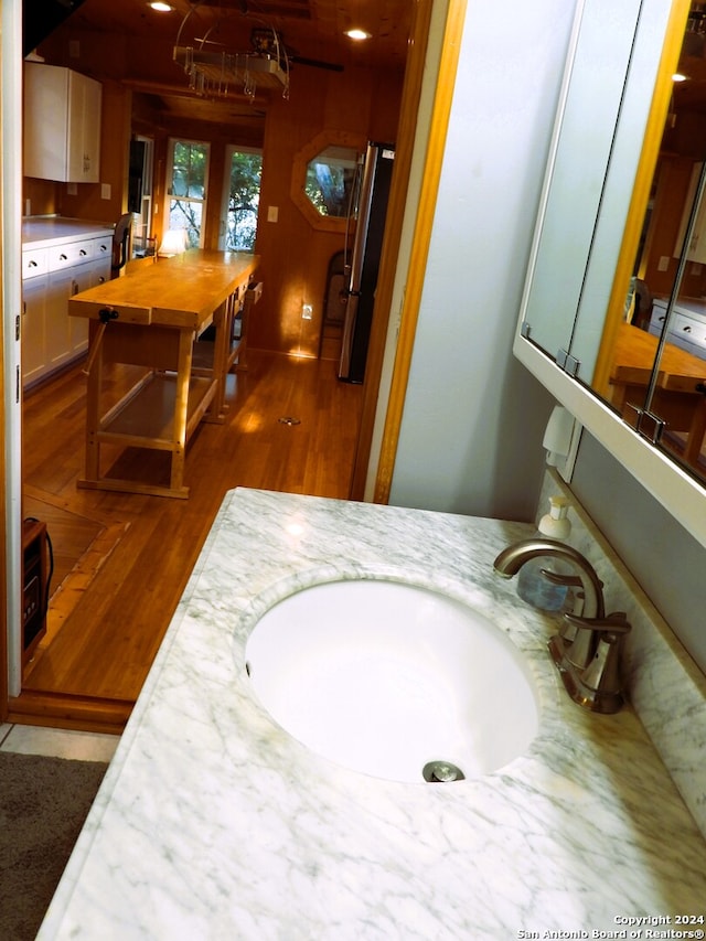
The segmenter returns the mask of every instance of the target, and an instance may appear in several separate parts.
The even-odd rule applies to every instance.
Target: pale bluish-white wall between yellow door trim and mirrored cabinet
[[[553,403],[511,347],[573,15],[469,0],[393,504],[534,517]]]

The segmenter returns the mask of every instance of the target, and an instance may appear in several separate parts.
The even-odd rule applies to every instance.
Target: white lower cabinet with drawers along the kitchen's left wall
[[[111,236],[68,238],[22,253],[22,382],[26,388],[88,349],[88,321],[68,299],[110,278]]]

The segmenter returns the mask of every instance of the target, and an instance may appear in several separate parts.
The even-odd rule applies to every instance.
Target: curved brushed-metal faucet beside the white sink
[[[597,713],[617,713],[623,703],[619,659],[621,641],[630,631],[625,616],[618,611],[606,617],[602,584],[588,559],[566,543],[554,539],[524,539],[504,548],[493,563],[502,578],[512,578],[525,563],[538,556],[568,562],[584,591],[581,616],[564,614],[564,627],[550,638],[549,653],[567,693],[581,706]],[[544,571],[559,585],[575,585],[571,576]]]

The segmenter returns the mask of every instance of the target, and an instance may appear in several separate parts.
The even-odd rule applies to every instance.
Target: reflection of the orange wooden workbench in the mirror
[[[629,405],[644,408],[645,394],[657,352],[659,339],[644,330],[622,323],[613,351],[610,384],[612,404],[625,416]],[[650,411],[666,421],[673,431],[686,431],[684,459],[696,467],[706,432],[706,360],[665,343],[660,360]]]

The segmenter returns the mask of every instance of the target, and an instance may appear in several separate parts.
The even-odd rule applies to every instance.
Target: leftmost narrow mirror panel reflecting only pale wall
[[[616,125],[627,110],[622,104],[639,8],[639,0],[619,4],[593,0],[581,17],[574,60],[565,76],[555,125],[556,149],[545,181],[545,203],[524,316],[532,342],[557,361],[568,355],[571,344],[576,347],[573,333],[585,297],[587,259],[590,267],[597,246],[597,221],[601,217],[601,206],[606,205],[605,190],[610,175],[606,168],[619,165],[613,138]],[[638,151],[641,138],[642,133],[632,139]],[[622,192],[623,201],[629,201],[631,190],[632,183],[628,182],[617,195]],[[612,206],[610,218],[614,216]],[[613,267],[614,256],[600,279],[608,292]],[[593,309],[605,311],[608,296],[602,308],[597,301],[590,298]],[[584,320],[590,322],[596,318]],[[592,374],[602,316],[596,327],[598,341],[592,353],[581,351],[577,357],[582,379]],[[577,363],[569,372],[575,375],[578,368]]]

